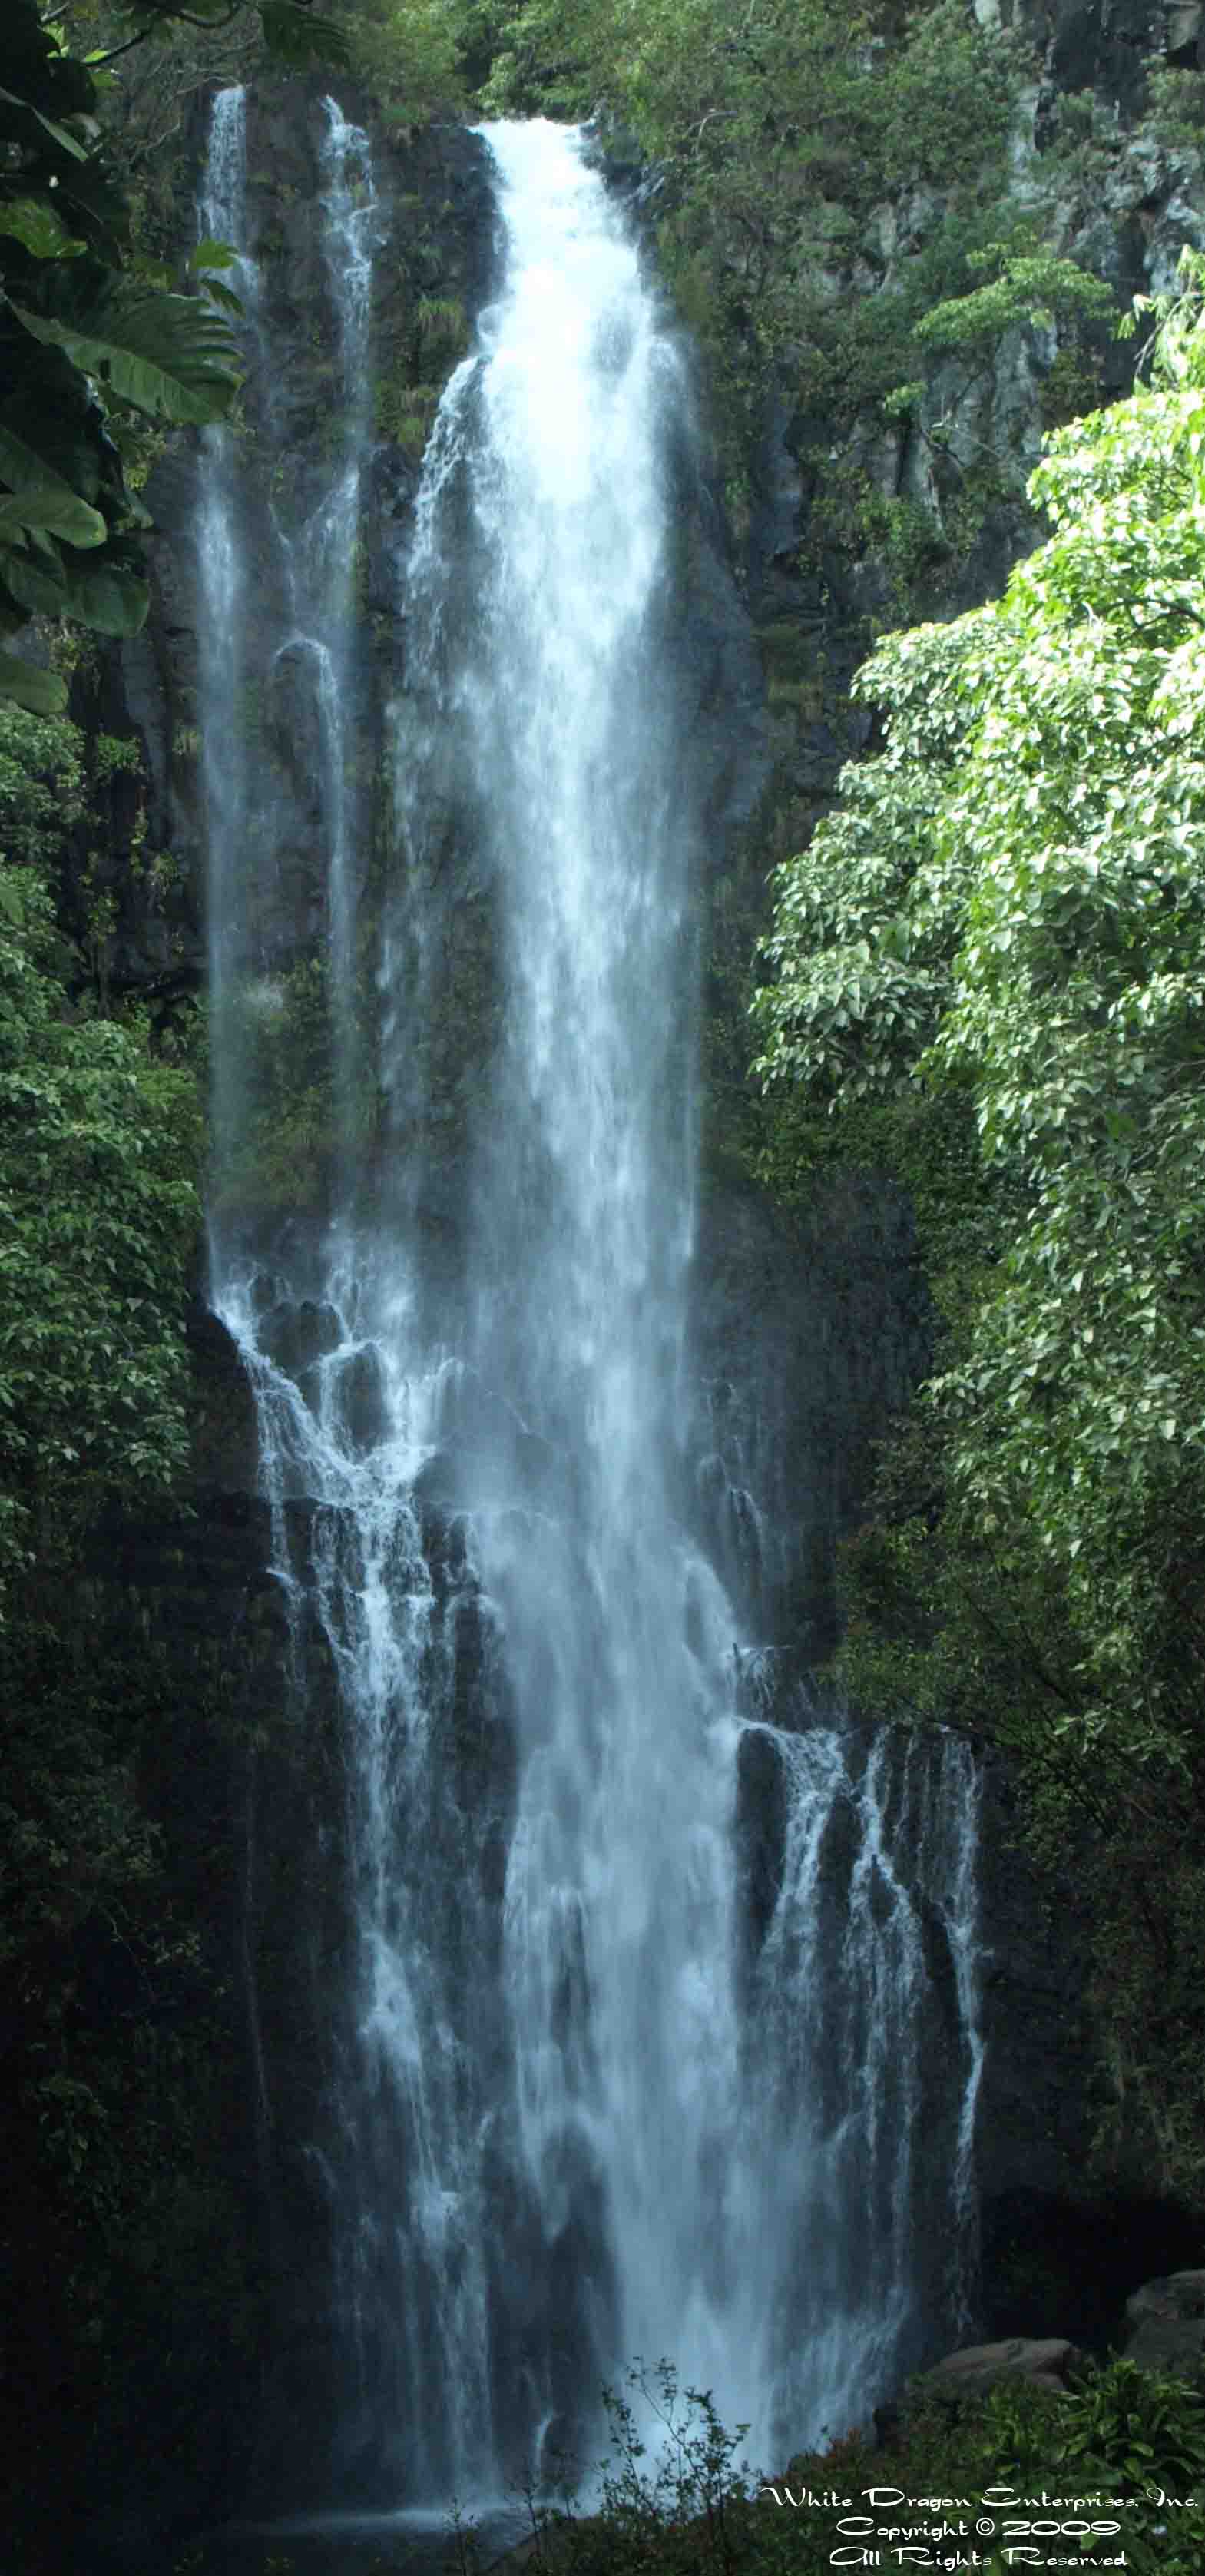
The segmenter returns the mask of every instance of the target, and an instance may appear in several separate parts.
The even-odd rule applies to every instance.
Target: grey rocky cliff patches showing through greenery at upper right
[[[1058,258],[1105,278],[1123,312],[1135,294],[1174,289],[1184,245],[1205,245],[1202,155],[1135,129],[1146,108],[1154,57],[1192,70],[1205,62],[1205,10],[1174,0],[976,0],[981,26],[1022,28],[1038,49],[1040,77],[1022,93],[1012,137],[1012,188]],[[1058,100],[1094,93],[1092,175],[1056,175]],[[875,296],[899,289],[911,258],[932,237],[940,196],[917,188],[883,201],[865,224],[850,294],[873,314]],[[1130,389],[1133,343],[1102,327],[1092,335],[1097,381],[1084,381],[1074,407],[1112,402]],[[968,371],[937,358],[927,371],[922,435],[911,425],[860,422],[842,461],[852,461],[883,502],[922,510],[955,546],[955,564],[914,587],[901,603],[883,551],[852,533],[832,541],[816,531],[824,502],[829,422],[801,412],[790,374],[765,386],[762,438],[752,456],[744,585],[762,641],[772,696],[772,796],[788,817],[785,848],[801,848],[824,811],[842,760],[865,747],[868,716],[845,690],[883,626],[922,616],[958,616],[1004,590],[1012,567],[1035,544],[1025,477],[1038,461],[1051,417],[1066,417],[1058,366],[1076,363],[1076,337],[1053,325],[1022,322],[1002,335],[991,363]],[[940,440],[929,433],[940,425]],[[945,453],[937,453],[937,448]],[[999,492],[976,502],[976,533],[958,533],[966,477],[984,459],[999,469]]]

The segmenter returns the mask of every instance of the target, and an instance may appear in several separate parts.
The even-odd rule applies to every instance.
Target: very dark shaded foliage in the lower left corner
[[[196,1631],[170,1659],[144,1607],[46,1546],[0,1633],[13,2568],[49,2563],[57,2517],[95,2519],[113,2463],[142,2460],[152,2486],[165,2460],[203,2455],[214,2378],[247,2370],[255,2336],[232,2177],[242,2069],[214,1973],[229,1788],[196,1726]],[[237,1674],[221,1685],[229,1700]],[[49,2555],[75,2566],[77,2530]]]

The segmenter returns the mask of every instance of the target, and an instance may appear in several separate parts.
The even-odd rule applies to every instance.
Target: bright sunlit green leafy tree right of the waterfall
[[[966,1103],[994,1260],[927,1388],[966,1553],[1079,1638],[1056,1728],[1184,1767],[1205,1618],[1205,319],[1048,440],[1007,595],[881,644],[883,750],[778,871],[760,1074]]]

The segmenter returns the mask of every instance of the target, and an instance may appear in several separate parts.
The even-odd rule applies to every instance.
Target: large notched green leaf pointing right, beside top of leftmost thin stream
[[[227,322],[198,296],[165,296],[95,268],[54,268],[54,312],[13,304],[33,340],[62,348],[118,402],[160,420],[219,420],[239,389]]]

